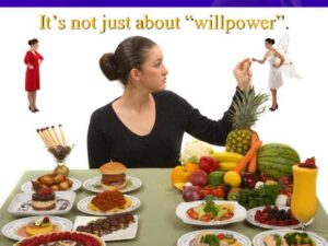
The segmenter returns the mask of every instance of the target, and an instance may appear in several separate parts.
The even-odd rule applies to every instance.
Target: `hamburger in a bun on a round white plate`
[[[108,162],[99,167],[104,190],[118,190],[127,185],[127,167],[119,162]]]

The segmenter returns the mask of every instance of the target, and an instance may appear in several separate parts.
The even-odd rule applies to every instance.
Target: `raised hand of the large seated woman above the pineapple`
[[[242,60],[234,68],[234,75],[238,83],[238,87],[243,90],[246,87],[251,87],[251,70],[250,70],[251,61],[249,58]]]

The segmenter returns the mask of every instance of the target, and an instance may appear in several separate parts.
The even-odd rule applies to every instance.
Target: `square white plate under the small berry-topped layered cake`
[[[8,207],[8,212],[13,215],[50,215],[68,213],[74,203],[75,192],[73,191],[57,191],[56,208],[52,210],[35,211],[32,208],[32,194],[17,194]]]

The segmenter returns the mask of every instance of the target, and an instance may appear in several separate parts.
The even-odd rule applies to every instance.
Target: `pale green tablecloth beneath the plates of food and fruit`
[[[139,229],[137,237],[131,241],[113,242],[107,245],[119,245],[119,246],[175,246],[179,236],[185,233],[201,230],[203,227],[192,226],[184,224],[176,215],[175,208],[179,202],[183,201],[181,194],[174,189],[169,184],[169,172],[171,169],[159,169],[159,168],[138,168],[129,169],[128,174],[131,176],[139,177],[143,184],[142,187],[133,192],[132,196],[138,197],[141,200],[141,207],[134,212],[139,215]],[[27,180],[36,178],[46,172],[40,171],[28,171],[25,172],[20,179],[17,186],[11,192],[7,201],[0,211],[0,226],[2,227],[15,218],[7,212],[8,206],[14,195],[20,192],[20,187]],[[86,180],[90,177],[96,176],[98,173],[95,169],[87,171],[71,171],[71,177],[78,178],[81,181]],[[7,187],[1,187],[4,189]],[[77,192],[75,203],[83,197],[92,195],[89,191],[79,190]],[[66,218],[74,222],[77,215],[85,215],[81,213],[74,206],[72,211],[65,214]],[[247,235],[250,239],[257,233],[262,232],[261,229],[251,226],[247,222],[235,223],[224,226],[226,230],[233,230]],[[328,216],[319,204],[318,211],[315,216],[315,221],[308,226],[308,231],[316,232],[326,239],[328,239]],[[0,245],[9,246],[13,245],[13,241],[5,238],[2,234],[0,235]]]

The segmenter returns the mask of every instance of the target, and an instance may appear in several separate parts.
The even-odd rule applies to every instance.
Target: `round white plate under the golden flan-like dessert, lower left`
[[[13,241],[21,241],[24,239],[24,236],[21,236],[19,234],[19,230],[25,226],[28,222],[35,221],[35,220],[43,220],[44,216],[28,216],[28,218],[23,218],[19,219],[15,221],[12,221],[8,224],[5,224],[1,232],[2,234]],[[59,231],[70,231],[73,227],[73,223],[65,218],[60,216],[49,216],[51,223],[57,226]]]

